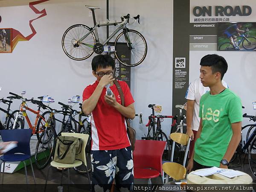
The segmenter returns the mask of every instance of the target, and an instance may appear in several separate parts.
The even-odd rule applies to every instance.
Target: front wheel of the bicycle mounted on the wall
[[[120,46],[119,43],[127,44],[126,39],[125,39],[125,32],[121,32],[116,37],[116,40],[115,40],[115,44],[114,44],[115,55],[116,55],[117,60],[120,63],[122,63],[123,65],[128,66],[128,67],[135,67],[135,66],[141,64],[147,55],[147,51],[148,51],[147,42],[140,32],[137,32],[132,29],[127,29],[126,33],[128,35],[128,38],[131,41],[132,49],[129,49],[128,46],[127,46],[127,49],[123,49],[123,47],[122,48],[119,47]],[[138,37],[138,38],[136,38],[136,37]],[[136,46],[140,46],[140,47],[136,47]],[[127,58],[122,58],[122,55],[125,55],[125,53],[129,50],[131,50],[131,58],[130,58],[131,62],[130,62],[130,64],[127,64],[125,62],[125,61],[127,61]],[[139,58],[135,59],[136,57],[139,57]]]

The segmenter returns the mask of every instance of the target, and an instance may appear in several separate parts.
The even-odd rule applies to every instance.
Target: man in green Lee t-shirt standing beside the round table
[[[221,83],[227,61],[219,55],[206,55],[200,65],[201,83],[210,91],[200,100],[201,119],[188,172],[212,166],[227,169],[241,140],[241,100]]]

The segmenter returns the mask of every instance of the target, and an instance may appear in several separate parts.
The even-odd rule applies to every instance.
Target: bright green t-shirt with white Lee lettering
[[[242,121],[240,98],[229,89],[217,95],[208,91],[200,100],[202,131],[195,143],[194,160],[204,166],[220,166],[233,131],[231,123]]]

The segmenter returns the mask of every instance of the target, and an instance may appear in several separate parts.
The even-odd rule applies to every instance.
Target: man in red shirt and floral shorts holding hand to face
[[[82,110],[91,115],[92,191],[110,190],[114,178],[116,187],[122,191],[133,189],[133,159],[125,117],[134,119],[134,99],[125,81],[119,81],[125,98],[125,106],[121,105],[113,84],[114,68],[114,60],[109,55],[95,56],[92,70],[96,81],[83,92]],[[106,95],[108,84],[113,96]]]

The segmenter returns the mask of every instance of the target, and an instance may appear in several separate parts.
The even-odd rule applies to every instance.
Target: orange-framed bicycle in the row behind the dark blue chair
[[[21,95],[24,95],[26,92],[23,91],[21,93]],[[15,93],[9,92],[9,94],[15,96],[15,99],[20,99],[22,100],[22,103],[20,104],[20,110],[15,110],[11,113],[8,121],[7,121],[7,127],[9,127],[9,125],[13,125],[12,128],[20,128],[23,129],[24,128],[24,119],[26,119],[26,122],[29,125],[29,128],[32,129],[32,134],[36,134],[38,140],[39,137],[41,135],[41,133],[44,131],[44,124],[47,122],[47,119],[49,118],[52,108],[50,108],[47,105],[44,105],[44,103],[42,102],[43,97],[38,97],[38,99],[40,100],[35,100],[34,98],[32,99],[26,99],[23,96],[19,96]],[[26,104],[26,102],[31,102],[35,105],[38,105],[38,110],[35,111],[31,108],[29,108]],[[43,109],[49,109],[50,111],[45,111],[44,113],[41,112],[41,108]],[[32,113],[34,113],[36,115],[35,118],[35,123],[34,125],[32,125],[28,114],[26,111],[30,111]],[[41,119],[41,121],[38,121],[38,119]],[[19,123],[19,122],[23,122],[23,123]],[[55,120],[52,120],[52,125],[53,128],[55,128]]]

